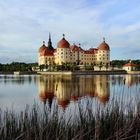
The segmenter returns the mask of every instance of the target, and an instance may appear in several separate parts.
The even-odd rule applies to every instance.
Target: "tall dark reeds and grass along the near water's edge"
[[[47,106],[34,105],[20,113],[0,110],[1,140],[134,140],[140,138],[140,100],[124,105],[112,101],[95,111],[88,104],[86,111],[78,104],[78,119],[64,119],[58,106],[52,111]]]

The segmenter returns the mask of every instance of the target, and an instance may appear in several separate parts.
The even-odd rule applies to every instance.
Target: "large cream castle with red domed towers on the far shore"
[[[110,47],[103,42],[97,48],[84,50],[80,44],[71,45],[63,34],[62,39],[57,43],[57,48],[52,46],[51,35],[49,34],[48,45],[45,41],[38,50],[38,64],[40,65],[62,65],[64,63],[76,63],[77,65],[99,65],[110,64]]]

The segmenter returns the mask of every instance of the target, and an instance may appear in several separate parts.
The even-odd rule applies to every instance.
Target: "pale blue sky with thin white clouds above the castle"
[[[0,63],[37,62],[62,34],[88,49],[105,37],[111,60],[140,59],[139,0],[0,0]]]

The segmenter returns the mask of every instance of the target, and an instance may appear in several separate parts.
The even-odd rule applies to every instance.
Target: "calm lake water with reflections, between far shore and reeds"
[[[140,94],[139,75],[39,76],[0,75],[0,108],[55,104],[59,110],[76,109],[77,103],[106,106],[113,98],[126,103]]]

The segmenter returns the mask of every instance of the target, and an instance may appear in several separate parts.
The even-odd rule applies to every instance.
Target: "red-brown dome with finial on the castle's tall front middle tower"
[[[58,48],[69,48],[70,44],[65,39],[65,35],[63,34],[63,38],[58,42],[57,47]]]

